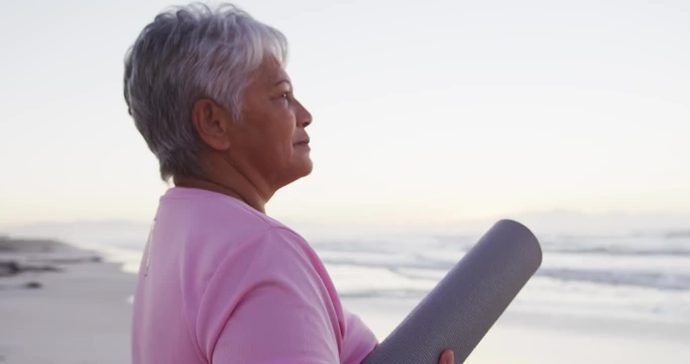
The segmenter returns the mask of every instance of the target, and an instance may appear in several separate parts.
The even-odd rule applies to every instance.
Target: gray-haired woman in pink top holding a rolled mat
[[[312,170],[286,51],[246,12],[200,4],[159,14],[128,51],[129,112],[175,184],[141,261],[134,364],[349,364],[377,345],[302,236],[266,216]]]

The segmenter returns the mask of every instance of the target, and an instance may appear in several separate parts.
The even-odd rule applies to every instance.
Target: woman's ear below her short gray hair
[[[210,99],[199,99],[192,108],[192,123],[201,141],[213,150],[230,148],[232,114]]]

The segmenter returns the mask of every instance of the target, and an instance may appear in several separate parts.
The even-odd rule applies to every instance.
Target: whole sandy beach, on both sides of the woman
[[[97,252],[55,241],[0,240],[0,262],[0,363],[130,362],[133,274]],[[333,273],[336,285],[345,283]],[[382,340],[419,299],[344,295],[343,303]],[[593,319],[511,307],[467,362],[690,363],[688,343],[687,321]]]

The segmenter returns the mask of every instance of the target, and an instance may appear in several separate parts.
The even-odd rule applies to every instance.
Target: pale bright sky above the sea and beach
[[[315,169],[288,221],[445,223],[690,211],[690,1],[240,1],[290,42]],[[168,1],[0,13],[0,226],[152,219],[160,181],[122,97]]]

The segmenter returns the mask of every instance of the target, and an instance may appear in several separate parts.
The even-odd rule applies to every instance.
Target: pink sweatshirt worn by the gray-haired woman
[[[224,194],[161,197],[139,269],[133,364],[354,364],[376,344],[302,236]]]

